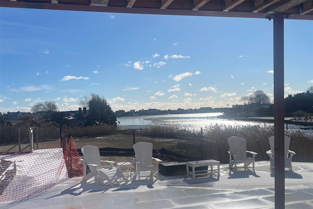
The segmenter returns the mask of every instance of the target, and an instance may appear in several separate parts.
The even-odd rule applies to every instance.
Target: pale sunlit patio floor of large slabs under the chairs
[[[313,163],[292,163],[285,172],[285,208],[313,209]],[[271,209],[274,175],[269,162],[255,163],[255,172],[221,164],[220,177],[160,176],[130,181],[119,187],[98,186],[67,179],[44,192],[1,209]]]

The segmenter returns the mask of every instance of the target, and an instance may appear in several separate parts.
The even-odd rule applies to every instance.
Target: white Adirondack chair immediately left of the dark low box
[[[162,160],[152,157],[153,144],[141,141],[135,143],[133,147],[135,152],[135,173],[133,180],[136,180],[137,176],[138,180],[140,180],[141,171],[150,171],[150,180],[153,180],[153,176],[158,179],[158,164],[162,162]],[[156,161],[156,165],[152,164],[152,160]]]

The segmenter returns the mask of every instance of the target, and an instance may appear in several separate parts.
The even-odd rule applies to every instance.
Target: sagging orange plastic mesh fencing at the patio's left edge
[[[60,147],[55,141],[50,147]],[[83,166],[74,140],[62,148],[0,154],[0,203],[41,194],[60,181],[83,176]]]

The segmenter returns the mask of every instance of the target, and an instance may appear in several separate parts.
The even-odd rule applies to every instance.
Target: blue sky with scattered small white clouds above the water
[[[229,107],[273,98],[273,21],[0,7],[0,112]],[[285,95],[313,86],[313,22],[285,20]]]

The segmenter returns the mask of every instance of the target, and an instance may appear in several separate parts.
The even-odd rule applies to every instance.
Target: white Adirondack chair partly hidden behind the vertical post
[[[274,169],[274,136],[271,136],[268,138],[270,150],[268,150],[266,153],[269,156],[269,162],[270,162],[270,171]],[[292,170],[291,167],[291,158],[293,155],[295,155],[295,152],[289,150],[289,144],[290,144],[290,137],[285,136],[285,168],[289,168],[289,170]]]

